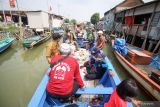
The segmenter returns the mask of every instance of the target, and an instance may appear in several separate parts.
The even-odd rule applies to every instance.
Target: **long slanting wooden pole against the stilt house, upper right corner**
[[[153,17],[154,17],[154,15],[155,15],[155,10],[156,10],[157,6],[158,6],[158,3],[155,3],[154,9],[153,9],[153,13],[152,13],[152,16],[151,16],[151,20],[150,20],[149,23],[148,23],[147,34],[146,34],[146,36],[144,37],[144,42],[143,42],[143,44],[142,44],[142,48],[143,48],[143,49],[145,49],[146,42],[147,42],[147,38],[148,38],[149,33],[150,33],[150,30],[151,30],[151,28],[152,28],[152,27],[151,27],[151,23],[152,23],[152,21],[153,21]]]

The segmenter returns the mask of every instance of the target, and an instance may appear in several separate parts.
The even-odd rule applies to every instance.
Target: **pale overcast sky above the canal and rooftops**
[[[10,9],[9,0],[0,0],[0,9]],[[64,17],[74,18],[79,21],[89,21],[92,14],[100,13],[103,17],[104,12],[110,10],[124,0],[18,0],[20,10],[49,10]],[[144,2],[152,0],[143,0]],[[3,2],[3,3],[2,3]],[[3,4],[3,5],[2,5]],[[13,9],[13,8],[12,8]]]

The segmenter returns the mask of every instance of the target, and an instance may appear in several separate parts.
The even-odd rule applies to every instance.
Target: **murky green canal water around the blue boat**
[[[0,107],[27,106],[49,66],[45,58],[45,46],[48,42],[26,50],[21,43],[15,41],[8,50],[0,54]],[[120,79],[130,78],[115,58],[111,46],[107,44],[104,52]],[[138,99],[151,100],[142,90]]]

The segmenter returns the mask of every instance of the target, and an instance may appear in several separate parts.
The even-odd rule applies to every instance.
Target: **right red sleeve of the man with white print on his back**
[[[80,75],[79,64],[77,63],[76,65],[77,66],[76,66],[76,69],[75,69],[75,72],[74,72],[74,77],[75,77],[75,80],[77,81],[77,83],[79,84],[80,88],[83,88],[84,83],[83,83],[81,75]]]

